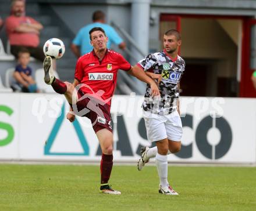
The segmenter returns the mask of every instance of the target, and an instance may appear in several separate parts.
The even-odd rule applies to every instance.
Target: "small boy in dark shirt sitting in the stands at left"
[[[15,82],[11,85],[14,91],[21,92],[37,92],[37,85],[32,78],[32,69],[28,66],[30,60],[29,50],[26,48],[20,49],[18,53],[18,65],[13,72]]]

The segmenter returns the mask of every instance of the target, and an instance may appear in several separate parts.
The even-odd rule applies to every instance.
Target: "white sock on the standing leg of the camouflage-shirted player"
[[[160,184],[163,188],[168,187],[168,161],[167,155],[160,155],[157,153],[155,157],[155,163],[157,164],[157,171],[160,180]]]

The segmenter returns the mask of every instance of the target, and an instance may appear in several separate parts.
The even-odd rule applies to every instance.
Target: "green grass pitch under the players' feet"
[[[155,166],[113,166],[99,193],[99,166],[0,165],[0,210],[256,210],[256,168],[169,166],[180,195],[158,194]]]

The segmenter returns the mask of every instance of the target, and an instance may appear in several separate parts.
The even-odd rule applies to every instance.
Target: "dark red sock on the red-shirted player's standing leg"
[[[113,155],[102,154],[101,157],[101,184],[108,183],[113,166]]]

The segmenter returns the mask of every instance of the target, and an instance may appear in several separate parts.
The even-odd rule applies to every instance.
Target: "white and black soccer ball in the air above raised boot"
[[[51,38],[44,43],[43,50],[45,56],[51,56],[52,59],[61,59],[65,53],[65,45],[61,39]]]

